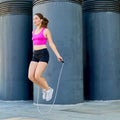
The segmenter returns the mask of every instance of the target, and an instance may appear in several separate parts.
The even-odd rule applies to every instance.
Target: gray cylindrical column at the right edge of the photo
[[[120,4],[118,0],[85,0],[87,99],[120,99]]]

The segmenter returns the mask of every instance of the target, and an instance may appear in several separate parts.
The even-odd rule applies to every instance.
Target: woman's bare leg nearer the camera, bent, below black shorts
[[[35,71],[35,79],[38,81],[40,87],[45,90],[49,90],[49,86],[45,78],[42,76],[42,73],[47,67],[46,62],[38,62],[37,68]]]

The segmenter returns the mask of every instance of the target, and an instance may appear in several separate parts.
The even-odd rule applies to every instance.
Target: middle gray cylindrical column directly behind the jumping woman
[[[56,99],[57,104],[83,102],[83,61],[82,61],[82,7],[78,0],[35,0],[33,14],[41,12],[49,19],[49,29],[58,51],[63,56],[65,65]],[[56,92],[61,63],[52,50],[50,61],[45,71],[45,78]],[[54,94],[55,95],[55,94]],[[39,103],[52,103],[42,100]],[[37,99],[37,86],[34,86],[34,102]]]

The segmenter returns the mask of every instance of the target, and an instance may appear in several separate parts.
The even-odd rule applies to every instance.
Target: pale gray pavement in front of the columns
[[[0,101],[0,120],[120,120],[120,100],[87,101],[74,105],[51,105],[33,101]]]

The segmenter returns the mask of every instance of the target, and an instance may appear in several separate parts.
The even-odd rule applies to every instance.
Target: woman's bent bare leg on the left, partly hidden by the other
[[[38,62],[31,61],[29,65],[29,70],[28,70],[28,78],[31,80],[33,83],[38,85],[37,80],[35,79],[35,71],[37,68]]]

